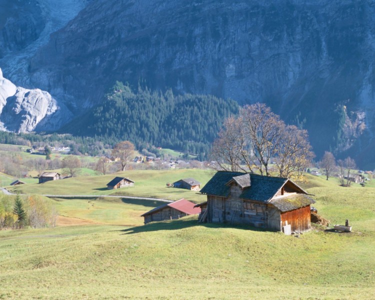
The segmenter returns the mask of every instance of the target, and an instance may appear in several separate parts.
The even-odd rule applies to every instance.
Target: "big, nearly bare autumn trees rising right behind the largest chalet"
[[[306,130],[286,125],[262,103],[244,106],[228,118],[213,142],[211,158],[223,170],[300,175],[314,157]],[[274,162],[271,165],[271,162]]]

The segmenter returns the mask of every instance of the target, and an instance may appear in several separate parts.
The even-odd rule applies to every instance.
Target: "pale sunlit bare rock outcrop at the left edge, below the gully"
[[[2,77],[0,69],[0,129],[14,132],[53,131],[71,113],[57,105],[52,96],[40,89],[16,87]]]

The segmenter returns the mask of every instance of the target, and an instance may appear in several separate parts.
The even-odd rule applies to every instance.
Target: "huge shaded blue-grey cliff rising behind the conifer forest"
[[[95,0],[51,35],[29,70],[75,114],[115,80],[145,80],[266,102],[308,129],[318,155],[360,141],[358,153],[375,130],[374,36],[374,1]],[[345,129],[349,121],[363,138]]]

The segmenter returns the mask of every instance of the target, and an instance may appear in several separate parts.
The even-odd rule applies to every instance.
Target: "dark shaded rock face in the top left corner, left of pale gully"
[[[0,3],[0,58],[25,48],[39,37],[45,21],[36,0],[2,0]]]

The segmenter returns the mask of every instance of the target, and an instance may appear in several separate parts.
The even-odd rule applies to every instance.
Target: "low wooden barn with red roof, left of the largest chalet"
[[[174,202],[166,203],[143,213],[144,223],[153,221],[164,221],[184,217],[190,214],[200,213],[199,207],[184,198]]]

